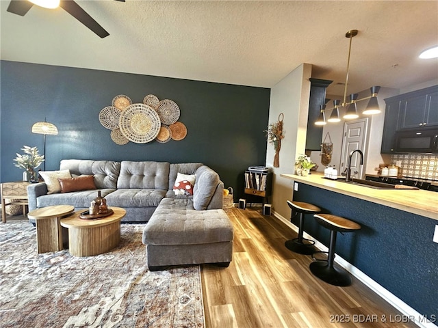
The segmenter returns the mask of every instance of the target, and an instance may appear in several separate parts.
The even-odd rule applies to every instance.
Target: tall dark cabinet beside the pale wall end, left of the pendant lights
[[[310,99],[309,117],[307,118],[306,150],[321,150],[322,126],[315,125],[320,115],[321,105],[325,105],[326,88],[333,81],[322,79],[309,79]]]

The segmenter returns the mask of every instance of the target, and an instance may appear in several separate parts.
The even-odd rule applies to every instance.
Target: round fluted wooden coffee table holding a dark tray
[[[61,220],[61,226],[68,228],[68,249],[73,256],[94,256],[105,253],[120,243],[120,220],[126,210],[111,208],[114,213],[101,219],[81,219],[78,210]]]

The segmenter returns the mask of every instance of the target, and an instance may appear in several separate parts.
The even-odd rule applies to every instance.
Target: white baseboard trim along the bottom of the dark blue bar
[[[275,217],[276,219],[279,219],[287,226],[292,228],[292,230],[298,233],[298,227],[295,226],[293,223],[291,223],[289,219],[285,219],[285,217],[279,215],[279,213],[276,213],[274,210],[272,210],[272,216]],[[320,243],[306,232],[304,232],[303,236],[305,236],[305,238],[311,239],[312,241],[315,241],[315,247],[317,247],[321,251],[328,250],[328,248],[324,244]],[[415,325],[417,325],[418,327],[438,328],[438,326],[435,325],[435,323],[430,322],[430,320],[427,320],[422,314],[417,312],[415,309],[411,308],[411,306],[409,306],[407,303],[404,303],[404,301],[402,301],[401,299],[396,297],[396,295],[392,294],[389,290],[387,290],[386,288],[375,282],[373,279],[368,277],[368,275],[365,275],[365,273],[357,269],[357,267],[353,266],[352,264],[344,260],[344,258],[340,257],[339,255],[336,255],[335,262],[339,264],[339,266],[343,267],[348,272],[350,272],[355,278],[363,282],[363,284],[365,284],[366,286],[368,286],[368,288],[376,292],[376,294],[381,296],[383,299],[385,299],[385,301],[387,301],[389,304],[394,306],[394,308],[396,308],[404,315],[403,318],[395,318],[396,320],[409,319],[412,320],[415,323]],[[438,318],[435,319],[438,320]]]

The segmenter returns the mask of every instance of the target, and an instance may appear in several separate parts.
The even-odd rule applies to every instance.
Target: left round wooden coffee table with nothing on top
[[[73,213],[74,210],[75,207],[71,205],[55,205],[36,208],[27,213],[29,219],[35,220],[38,253],[64,249],[60,219]]]

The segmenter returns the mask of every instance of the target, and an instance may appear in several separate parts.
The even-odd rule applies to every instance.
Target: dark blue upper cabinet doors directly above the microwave
[[[438,85],[401,96],[398,129],[438,126]]]

